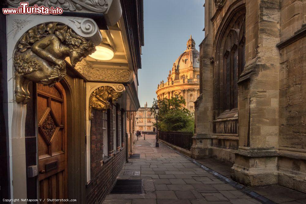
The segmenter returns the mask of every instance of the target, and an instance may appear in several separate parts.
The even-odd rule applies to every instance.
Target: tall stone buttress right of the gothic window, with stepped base
[[[279,0],[246,1],[246,65],[238,82],[239,149],[231,176],[278,183]]]

